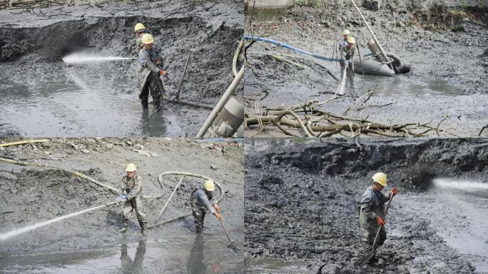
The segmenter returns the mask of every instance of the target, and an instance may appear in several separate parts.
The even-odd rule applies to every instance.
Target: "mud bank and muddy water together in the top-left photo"
[[[73,53],[136,57],[138,22],[162,51],[168,96],[176,95],[192,53],[180,98],[214,106],[233,80],[240,1],[7,9],[0,11],[0,136],[194,136],[210,110],[165,103],[161,113],[152,106],[143,113],[135,60],[62,61]]]

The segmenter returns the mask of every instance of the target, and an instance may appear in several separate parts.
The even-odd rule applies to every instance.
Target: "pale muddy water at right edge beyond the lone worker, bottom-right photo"
[[[477,273],[488,272],[487,182],[437,178],[427,193],[408,199],[407,208],[429,219],[438,235]]]

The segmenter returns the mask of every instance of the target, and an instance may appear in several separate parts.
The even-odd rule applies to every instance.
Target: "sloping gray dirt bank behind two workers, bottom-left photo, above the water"
[[[9,141],[9,140],[3,140]],[[138,153],[133,151],[150,151]],[[224,151],[225,149],[225,151]],[[47,143],[2,149],[1,157],[35,161],[57,168],[78,171],[109,186],[118,186],[129,162],[136,163],[143,178],[144,209],[149,224],[171,195],[181,176],[158,175],[165,171],[186,171],[213,178],[223,186],[220,205],[230,230],[242,231],[243,220],[243,148],[239,143],[196,143],[188,139],[168,138],[53,138]],[[148,156],[149,155],[149,156]],[[161,220],[171,220],[191,213],[188,198],[203,179],[185,176]],[[24,228],[68,213],[114,201],[106,188],[56,168],[17,166],[0,162],[1,233]],[[218,192],[218,191],[217,191]],[[79,248],[103,248],[120,240],[121,207],[106,208],[61,220],[53,225],[14,236],[2,243],[0,253],[33,253]],[[220,234],[220,224],[205,222],[206,233]],[[141,237],[135,215],[124,240]],[[149,238],[195,233],[190,217],[149,231]],[[242,235],[234,233],[240,240]]]

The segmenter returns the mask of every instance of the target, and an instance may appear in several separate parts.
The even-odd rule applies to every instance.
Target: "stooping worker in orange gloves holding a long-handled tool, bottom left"
[[[222,218],[218,212],[220,207],[217,203],[210,203],[213,198],[213,191],[215,190],[215,183],[211,180],[205,181],[203,188],[196,188],[193,193],[191,193],[190,204],[191,211],[193,214],[193,221],[195,222],[195,228],[197,233],[202,233],[203,231],[203,220],[205,220],[206,210],[215,215],[219,220]]]

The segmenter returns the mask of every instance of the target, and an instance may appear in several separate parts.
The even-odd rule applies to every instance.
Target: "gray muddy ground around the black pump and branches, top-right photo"
[[[370,32],[350,1],[320,1],[320,6],[294,6],[281,12],[246,12],[245,34],[266,36],[298,49],[337,58],[337,41],[342,30],[350,29],[360,44],[361,54],[369,54],[366,46]],[[488,19],[483,1],[382,1],[380,11],[360,7],[377,39],[387,52],[401,56],[412,64],[412,70],[394,77],[362,76],[356,73],[357,96],[367,91],[380,91],[368,101],[364,111],[351,116],[368,117],[380,123],[442,123],[449,130],[446,137],[478,136],[488,124]],[[299,68],[278,61],[270,54],[297,56],[285,59],[309,68]],[[281,56],[283,57],[283,56]],[[357,56],[355,57],[357,59]],[[248,49],[248,69],[244,96],[246,114],[255,115],[255,101],[260,113],[266,107],[285,108],[316,99],[325,101],[335,93],[338,83],[318,61],[340,77],[337,62],[312,59],[273,44],[256,42]],[[265,90],[266,92],[263,92]],[[350,94],[351,91],[346,91]],[[322,106],[340,114],[350,106],[352,98],[340,98]],[[390,104],[388,106],[384,106]],[[382,106],[382,107],[377,107]],[[258,134],[250,127],[245,136],[283,136],[268,127]],[[258,134],[258,135],[256,135]],[[487,136],[483,132],[482,136]]]

